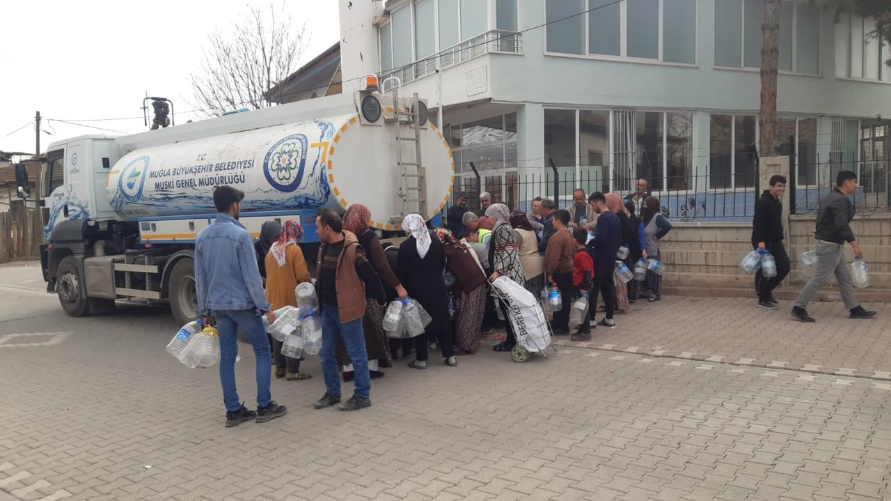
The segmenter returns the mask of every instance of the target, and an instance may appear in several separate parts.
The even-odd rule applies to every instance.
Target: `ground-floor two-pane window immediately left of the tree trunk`
[[[712,115],[708,133],[708,187],[753,188],[756,184],[758,119],[754,115]]]

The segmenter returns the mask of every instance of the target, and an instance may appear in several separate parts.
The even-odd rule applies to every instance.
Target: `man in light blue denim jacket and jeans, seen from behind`
[[[257,419],[265,423],[287,409],[272,400],[269,391],[270,350],[262,316],[273,323],[275,314],[263,291],[254,242],[238,222],[244,193],[217,186],[214,205],[217,220],[195,239],[195,286],[198,313],[205,325],[216,325],[220,337],[220,382],[223,384],[225,425],[238,426]],[[235,389],[238,329],[248,336],[257,356],[257,412],[247,409]]]

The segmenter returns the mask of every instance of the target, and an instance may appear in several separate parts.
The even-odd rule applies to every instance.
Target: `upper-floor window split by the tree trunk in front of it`
[[[761,67],[764,0],[715,0],[715,66]],[[781,71],[820,73],[820,11],[809,2],[780,4]]]

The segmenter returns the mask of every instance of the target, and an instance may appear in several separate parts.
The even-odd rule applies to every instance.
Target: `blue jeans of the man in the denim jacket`
[[[263,319],[253,309],[224,309],[213,311],[220,333],[220,382],[223,384],[225,410],[237,411],[241,399],[235,389],[235,357],[238,355],[238,329],[248,336],[257,356],[257,407],[266,407],[272,399],[269,393],[272,354]]]

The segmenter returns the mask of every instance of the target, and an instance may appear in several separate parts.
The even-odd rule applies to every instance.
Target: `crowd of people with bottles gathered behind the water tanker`
[[[642,185],[645,192],[646,185]],[[636,193],[635,193],[636,194]],[[634,198],[634,195],[631,195]],[[645,194],[645,193],[644,193]],[[287,409],[272,400],[269,365],[276,378],[306,381],[301,359],[282,355],[282,342],[265,332],[261,316],[275,321],[274,311],[297,306],[295,289],[313,283],[307,259],[298,243],[303,228],[296,221],[268,221],[254,242],[238,221],[244,194],[219,186],[214,202],[219,215],[196,240],[195,268],[199,314],[217,325],[220,380],[226,425],[256,419],[264,422]],[[564,298],[553,312],[552,331],[572,339],[591,339],[591,329],[616,325],[616,312],[627,311],[638,299],[658,301],[660,281],[649,272],[645,288],[625,285],[614,273],[617,260],[634,267],[637,259],[658,257],[658,241],[671,225],[658,214],[653,197],[637,196],[635,205],[613,193],[573,193],[573,203],[557,209],[554,201],[536,198],[529,213],[493,203],[490,193],[479,197],[480,209],[467,207],[461,194],[446,213],[444,227],[430,227],[416,214],[406,216],[406,239],[398,246],[380,242],[370,227],[371,211],[361,203],[341,217],[322,209],[315,221],[321,242],[316,258],[315,291],[320,304],[323,343],[319,352],[325,393],[315,408],[340,403],[340,380],[354,381],[355,392],[339,408],[357,410],[371,405],[372,379],[400,359],[423,370],[438,352],[443,363],[458,365],[459,356],[477,352],[482,336],[503,325],[504,340],[495,351],[510,351],[517,340],[509,311],[490,285],[504,276],[541,297],[555,287]],[[618,259],[620,247],[628,252]],[[569,325],[572,300],[586,296],[589,315]],[[416,300],[432,321],[422,335],[388,339],[383,317],[388,302]],[[598,322],[599,300],[603,317]],[[235,388],[236,333],[245,334],[257,355],[257,411],[244,407]],[[266,367],[264,367],[266,365]]]

